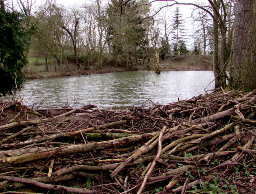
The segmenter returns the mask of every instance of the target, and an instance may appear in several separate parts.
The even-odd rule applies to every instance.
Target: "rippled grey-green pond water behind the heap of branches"
[[[212,80],[212,71],[116,72],[28,80],[20,94],[23,103],[34,108],[44,102],[40,108],[94,104],[99,109],[124,109],[142,106],[149,98],[158,104],[189,99],[204,94]],[[213,88],[214,82],[207,90]]]

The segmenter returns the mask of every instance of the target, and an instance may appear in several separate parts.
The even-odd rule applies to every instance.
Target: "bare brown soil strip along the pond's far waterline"
[[[166,55],[164,60],[160,60],[160,66],[162,71],[173,70],[212,70],[212,55]],[[44,64],[41,65],[42,68]],[[42,69],[41,68],[41,69]],[[121,71],[133,71],[133,70],[154,70],[154,66],[148,66],[142,64],[140,66],[116,67],[116,66],[104,66],[102,69],[97,69],[92,65],[91,70],[78,70],[75,64],[69,64],[68,67],[62,66],[55,68],[49,68],[47,72],[45,70],[25,70],[26,79],[38,79],[38,78],[52,78],[61,76],[76,76],[86,74],[103,74],[110,72]],[[35,68],[34,68],[35,69]],[[44,68],[43,68],[44,69]]]

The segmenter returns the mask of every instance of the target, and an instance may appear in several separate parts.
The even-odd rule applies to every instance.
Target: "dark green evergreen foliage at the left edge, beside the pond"
[[[20,26],[23,18],[18,12],[0,8],[0,95],[20,88],[24,82],[21,72],[27,61],[30,31]]]

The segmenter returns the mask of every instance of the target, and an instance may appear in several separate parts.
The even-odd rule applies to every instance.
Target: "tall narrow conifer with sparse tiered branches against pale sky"
[[[186,47],[185,41],[183,40],[185,37],[185,28],[184,28],[184,20],[182,19],[182,14],[180,13],[179,7],[176,6],[176,10],[174,12],[173,22],[172,22],[172,30],[173,40],[174,40],[174,54],[184,54],[184,46]]]

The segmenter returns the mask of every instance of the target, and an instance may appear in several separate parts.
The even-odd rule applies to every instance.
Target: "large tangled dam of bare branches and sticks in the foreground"
[[[255,91],[150,102],[106,111],[2,101],[0,190],[253,193]]]

